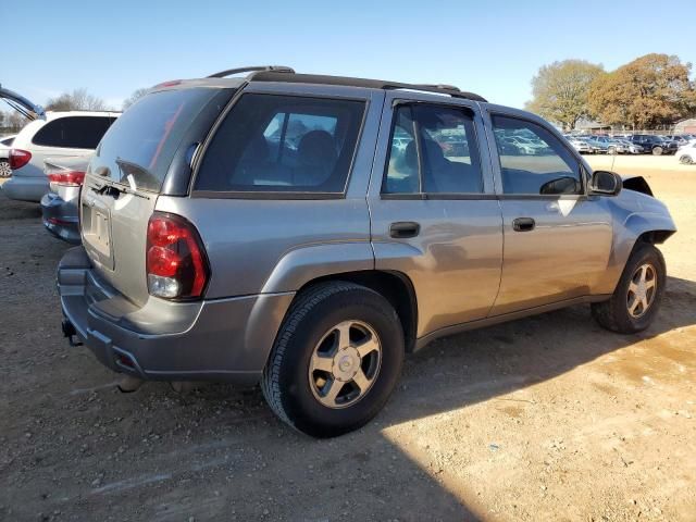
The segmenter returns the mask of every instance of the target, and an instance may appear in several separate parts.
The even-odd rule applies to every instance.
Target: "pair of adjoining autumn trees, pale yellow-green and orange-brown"
[[[582,120],[605,125],[656,128],[696,115],[691,63],[675,55],[646,54],[607,72],[601,64],[563,60],[532,78],[526,109],[573,129]]]

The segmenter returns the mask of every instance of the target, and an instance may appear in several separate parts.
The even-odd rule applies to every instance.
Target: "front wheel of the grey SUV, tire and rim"
[[[592,314],[601,326],[612,332],[641,332],[657,315],[666,281],[662,253],[652,245],[639,245],[631,253],[611,298],[593,303]]]

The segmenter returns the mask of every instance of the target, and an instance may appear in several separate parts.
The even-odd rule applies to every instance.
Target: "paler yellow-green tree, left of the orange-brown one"
[[[532,78],[534,98],[527,110],[572,129],[589,115],[587,95],[592,83],[605,74],[601,65],[585,60],[563,60],[544,65]]]

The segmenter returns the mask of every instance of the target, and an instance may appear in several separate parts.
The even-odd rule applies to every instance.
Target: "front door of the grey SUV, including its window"
[[[488,105],[496,191],[505,257],[490,315],[586,296],[607,268],[611,216],[587,194],[588,167],[558,133],[527,113]],[[504,152],[502,139],[524,135],[544,147],[534,154]]]

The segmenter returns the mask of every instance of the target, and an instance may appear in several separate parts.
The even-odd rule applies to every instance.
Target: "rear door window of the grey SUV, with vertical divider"
[[[482,191],[481,159],[468,109],[405,104],[394,116],[383,191]]]

